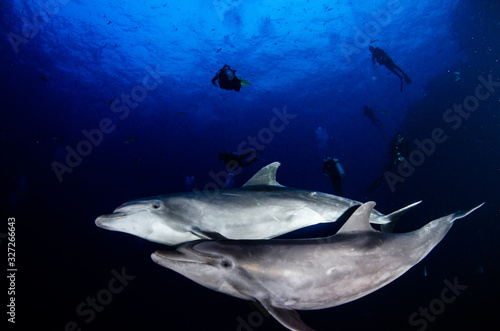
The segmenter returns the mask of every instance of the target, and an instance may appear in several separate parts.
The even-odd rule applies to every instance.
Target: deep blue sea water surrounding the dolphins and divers
[[[332,154],[347,197],[382,212],[424,201],[397,232],[486,201],[401,278],[356,302],[301,312],[307,324],[485,329],[500,295],[499,14],[493,0],[2,1],[2,220],[17,222],[15,327],[279,329],[245,301],[154,264],[160,245],[94,225],[125,201],[186,190],[186,177],[210,187],[211,173],[225,178],[218,153],[253,146],[263,161],[235,175],[236,186],[280,161],[281,184],[333,193],[321,173]],[[370,44],[412,78],[403,92],[372,65]],[[214,87],[224,64],[251,85]],[[464,103],[462,115],[447,112]],[[446,141],[424,153],[415,140],[435,130]],[[414,171],[393,168],[401,181],[368,194],[398,131],[420,151]],[[135,278],[107,297],[122,268]],[[441,307],[444,281],[455,278],[467,289]],[[90,309],[96,296],[106,304]],[[409,321],[431,303],[439,314]]]

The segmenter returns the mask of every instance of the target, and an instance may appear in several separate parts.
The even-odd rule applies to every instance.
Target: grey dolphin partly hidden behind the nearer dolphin
[[[165,245],[199,239],[269,239],[318,223],[335,222],[361,202],[331,194],[284,187],[274,162],[242,188],[185,192],[124,203],[99,216],[103,229],[136,235]],[[373,210],[370,222],[396,221],[413,203],[389,215]]]

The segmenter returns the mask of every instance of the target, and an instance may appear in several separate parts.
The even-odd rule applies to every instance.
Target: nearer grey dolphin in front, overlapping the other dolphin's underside
[[[394,234],[370,226],[374,205],[359,207],[327,238],[201,240],[156,251],[151,258],[212,290],[259,301],[290,330],[311,331],[295,309],[338,306],[389,284],[422,260],[454,220],[482,206]]]

